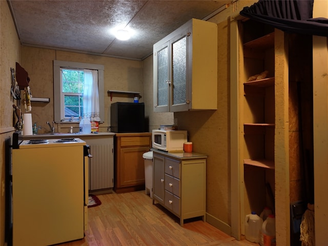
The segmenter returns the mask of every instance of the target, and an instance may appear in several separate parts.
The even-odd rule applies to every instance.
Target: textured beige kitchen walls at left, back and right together
[[[18,61],[29,73],[34,97],[49,97],[50,103],[32,103],[33,122],[42,126],[41,132],[49,131],[46,121],[53,120],[53,67],[52,61],[68,60],[94,63],[105,66],[105,122],[100,131],[107,131],[110,125],[109,108],[115,101],[133,101],[133,97],[113,95],[111,101],[107,90],[140,91],[140,102],[145,103],[149,130],[159,125],[173,124],[177,118],[179,129],[189,132],[194,151],[207,154],[207,220],[217,228],[231,234],[231,153],[230,149],[230,19],[238,15],[244,6],[257,1],[238,1],[209,21],[218,24],[218,110],[189,111],[178,113],[153,112],[153,57],[143,61],[118,59],[68,51],[40,49],[19,46],[19,40],[6,1],[0,1],[1,67],[0,67],[0,140],[1,191],[4,189],[4,140],[12,134],[12,104],[10,95],[10,67]],[[22,49],[22,51],[20,51]],[[22,56],[22,58],[20,58]],[[57,127],[57,126],[56,126]],[[74,127],[77,127],[75,125]],[[59,129],[59,128],[58,128]],[[57,130],[58,130],[57,129]],[[60,126],[62,131],[63,126]],[[75,129],[76,130],[76,129]],[[318,173],[320,173],[318,171]],[[0,194],[0,245],[4,245],[4,193]]]

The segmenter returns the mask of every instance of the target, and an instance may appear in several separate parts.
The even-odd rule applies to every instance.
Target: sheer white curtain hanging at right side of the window
[[[98,97],[98,71],[84,70],[83,116],[100,121]]]

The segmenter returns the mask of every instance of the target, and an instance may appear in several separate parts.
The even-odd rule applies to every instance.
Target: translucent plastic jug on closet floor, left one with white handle
[[[260,242],[260,232],[263,220],[254,211],[246,215],[245,220],[245,237],[250,242]]]

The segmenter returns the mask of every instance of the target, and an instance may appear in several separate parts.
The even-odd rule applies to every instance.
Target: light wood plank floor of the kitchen
[[[179,219],[159,204],[154,205],[145,191],[97,197],[102,204],[88,209],[89,229],[85,238],[57,245],[259,245],[247,240],[237,241],[201,218],[185,220],[180,227]]]

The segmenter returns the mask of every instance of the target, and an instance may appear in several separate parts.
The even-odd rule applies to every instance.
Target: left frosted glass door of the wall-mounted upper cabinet
[[[154,102],[155,112],[169,111],[170,69],[169,69],[169,43],[158,48],[154,54],[157,70],[154,72]]]

